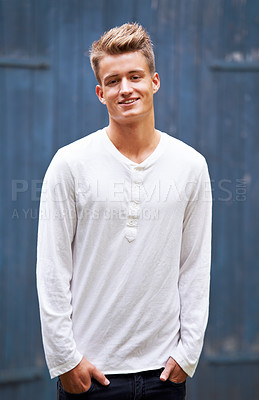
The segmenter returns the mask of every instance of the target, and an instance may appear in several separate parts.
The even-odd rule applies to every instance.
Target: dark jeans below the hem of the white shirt
[[[95,379],[87,392],[71,394],[64,391],[58,380],[58,400],[184,400],[185,382],[162,382],[159,377],[163,368],[136,374],[107,375],[111,382],[103,386]]]

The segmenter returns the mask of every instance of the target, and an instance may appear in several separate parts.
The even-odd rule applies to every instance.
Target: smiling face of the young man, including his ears
[[[153,115],[153,95],[160,86],[159,76],[151,76],[144,55],[130,52],[107,55],[99,64],[99,100],[107,106],[110,119],[133,123]]]

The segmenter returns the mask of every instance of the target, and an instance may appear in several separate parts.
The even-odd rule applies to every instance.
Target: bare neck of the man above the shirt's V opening
[[[140,164],[157,147],[160,133],[154,123],[118,124],[110,121],[106,129],[109,139],[125,157]]]

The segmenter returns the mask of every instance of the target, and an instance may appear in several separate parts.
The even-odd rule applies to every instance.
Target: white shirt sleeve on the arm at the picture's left
[[[43,181],[37,245],[37,290],[43,346],[51,378],[76,365],[82,355],[72,330],[72,245],[76,229],[74,181],[60,151]]]

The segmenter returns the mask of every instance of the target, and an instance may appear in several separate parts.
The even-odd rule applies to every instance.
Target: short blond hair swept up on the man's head
[[[140,51],[146,58],[150,74],[155,73],[155,56],[150,36],[137,23],[116,26],[105,32],[101,38],[93,42],[90,49],[91,66],[97,81],[101,84],[99,64],[105,55],[115,55]]]

